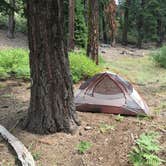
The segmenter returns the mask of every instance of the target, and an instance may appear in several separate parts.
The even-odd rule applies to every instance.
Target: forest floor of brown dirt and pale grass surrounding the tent
[[[0,47],[26,47],[24,36],[23,42],[18,40],[21,45],[17,45],[16,40],[14,43],[2,43],[1,40]],[[18,122],[27,113],[30,83],[22,80],[0,81],[0,124],[23,142],[37,166],[130,166],[128,154],[135,140],[141,133],[149,131],[159,133],[163,147],[159,156],[166,159],[166,71],[154,67],[147,55],[149,49],[138,50],[120,45],[109,48],[104,45],[100,53],[105,60],[102,64],[104,70],[111,70],[129,79],[148,103],[153,118],[124,117],[118,121],[116,115],[78,112],[82,124],[75,135],[35,135],[18,127]],[[112,128],[101,132],[101,124]],[[78,153],[80,141],[92,144],[85,154]],[[14,165],[15,156],[7,144],[0,140],[0,166]]]

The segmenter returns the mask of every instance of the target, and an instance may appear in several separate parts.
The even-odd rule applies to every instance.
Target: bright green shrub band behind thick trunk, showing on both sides
[[[73,82],[89,78],[100,71],[83,51],[71,52],[70,69]],[[29,78],[29,57],[25,49],[3,49],[0,50],[0,77],[15,76],[17,78]]]

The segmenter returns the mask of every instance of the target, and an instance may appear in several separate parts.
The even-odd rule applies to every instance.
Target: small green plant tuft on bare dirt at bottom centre
[[[85,152],[87,152],[90,148],[92,147],[92,143],[88,142],[88,141],[81,141],[78,145],[77,145],[77,150],[80,154],[84,154]]]

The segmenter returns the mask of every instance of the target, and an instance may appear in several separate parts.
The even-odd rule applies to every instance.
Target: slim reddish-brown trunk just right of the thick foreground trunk
[[[74,16],[75,16],[75,0],[69,0],[69,40],[68,49],[74,50]]]

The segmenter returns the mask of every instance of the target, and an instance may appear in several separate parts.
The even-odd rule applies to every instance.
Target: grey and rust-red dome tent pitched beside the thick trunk
[[[147,104],[122,77],[99,73],[84,82],[75,94],[76,109],[122,115],[149,115]]]

